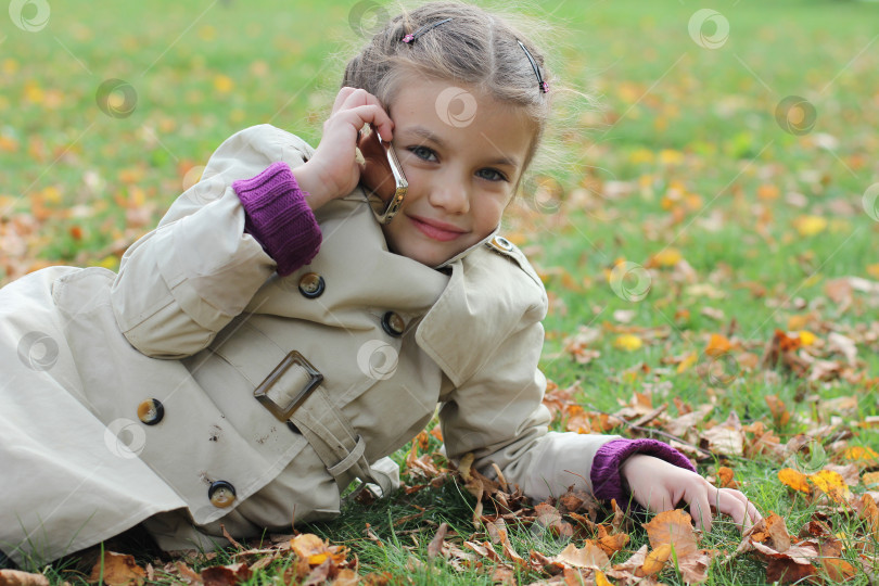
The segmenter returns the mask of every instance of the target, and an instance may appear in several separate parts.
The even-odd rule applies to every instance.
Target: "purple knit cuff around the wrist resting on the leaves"
[[[628,492],[623,487],[623,475],[620,468],[633,454],[645,454],[696,472],[696,468],[686,456],[658,440],[611,440],[600,448],[593,460],[589,479],[593,481],[593,494],[602,500],[616,499],[620,507],[628,504]]]

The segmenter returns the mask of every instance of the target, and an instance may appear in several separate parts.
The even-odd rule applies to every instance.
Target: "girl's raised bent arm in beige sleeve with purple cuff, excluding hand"
[[[131,345],[156,358],[190,356],[242,313],[276,270],[292,271],[314,256],[319,230],[304,194],[294,201],[290,171],[313,153],[269,125],[242,130],[217,149],[202,179],[123,256],[111,302]],[[282,164],[267,169],[276,162]],[[233,188],[240,180],[243,202]]]

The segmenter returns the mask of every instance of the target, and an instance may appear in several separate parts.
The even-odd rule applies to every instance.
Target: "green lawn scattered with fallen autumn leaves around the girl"
[[[372,14],[393,12],[364,7],[31,2],[17,24],[4,17],[0,284],[55,264],[117,268],[241,128],[270,123],[317,145],[349,48]],[[548,39],[551,91],[563,98],[552,156],[505,218],[505,235],[549,292],[542,368],[553,428],[674,436],[716,482],[728,482],[721,467],[731,470],[794,540],[810,521],[821,526],[813,535],[833,552],[799,564],[814,572],[806,579],[875,581],[879,513],[865,504],[879,497],[879,3],[569,0],[522,10],[562,27]],[[678,424],[688,413],[701,416]],[[435,435],[416,446],[445,467],[430,456]],[[395,455],[409,486],[442,472],[407,466],[410,450]],[[799,491],[779,479],[785,469],[802,474]],[[347,563],[356,557],[375,583],[528,584],[570,576],[559,565],[552,578],[531,551],[586,548],[612,525],[609,508],[594,525],[565,515],[571,538],[523,514],[508,521],[509,546],[532,563],[517,565],[488,526],[492,505],[474,524],[475,499],[451,476],[295,528],[349,548]],[[628,542],[612,564],[649,544],[644,521],[613,530]],[[429,555],[444,522],[443,553]],[[767,583],[769,558],[734,555],[740,542],[729,520],[701,537],[715,550],[709,584]],[[127,546],[155,568],[151,581],[182,579],[162,570],[174,560]],[[200,570],[259,556],[230,547],[184,561]],[[289,555],[265,556],[254,584],[296,566]],[[659,581],[687,579],[675,559]],[[75,584],[91,563],[93,552],[25,570]]]

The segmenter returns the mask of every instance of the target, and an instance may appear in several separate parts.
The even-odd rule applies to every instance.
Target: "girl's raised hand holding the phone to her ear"
[[[355,149],[358,132],[368,123],[383,140],[391,140],[394,123],[378,98],[364,89],[339,90],[314,156],[293,169],[300,188],[309,194],[306,202],[311,209],[347,195],[357,187],[362,166],[355,158]]]

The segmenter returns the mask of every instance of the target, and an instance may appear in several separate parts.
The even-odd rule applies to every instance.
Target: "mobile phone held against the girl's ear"
[[[371,124],[360,130],[357,148],[365,162],[360,183],[367,190],[372,214],[380,224],[388,224],[399,212],[409,182],[394,146],[382,140]]]

